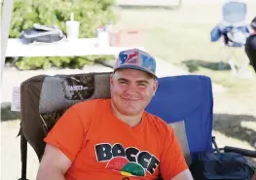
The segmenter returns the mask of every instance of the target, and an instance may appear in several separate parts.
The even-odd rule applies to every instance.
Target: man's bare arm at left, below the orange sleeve
[[[65,180],[64,174],[71,161],[55,146],[46,145],[36,180]]]

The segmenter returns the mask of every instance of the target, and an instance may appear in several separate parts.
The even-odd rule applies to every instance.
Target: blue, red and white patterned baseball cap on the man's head
[[[114,72],[118,69],[137,69],[156,76],[156,59],[139,49],[129,49],[119,53]]]

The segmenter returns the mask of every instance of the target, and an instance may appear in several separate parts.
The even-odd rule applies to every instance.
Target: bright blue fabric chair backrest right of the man
[[[199,75],[165,77],[147,111],[167,124],[183,121],[191,160],[200,152],[212,152],[213,95],[211,81]],[[182,142],[182,141],[181,141]],[[185,142],[186,143],[186,142]],[[185,156],[187,157],[187,155]]]

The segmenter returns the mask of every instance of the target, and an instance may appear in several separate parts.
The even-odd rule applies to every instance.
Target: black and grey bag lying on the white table
[[[35,23],[32,28],[21,32],[19,40],[23,44],[34,42],[54,43],[65,37],[64,32],[57,26],[40,25]]]

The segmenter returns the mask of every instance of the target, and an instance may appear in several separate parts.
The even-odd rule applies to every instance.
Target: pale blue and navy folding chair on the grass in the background
[[[223,42],[220,69],[223,69],[223,61],[228,62],[234,74],[244,71],[249,64],[246,55],[244,55],[244,62],[239,69],[234,61],[235,53],[238,52],[238,49],[243,51],[246,38],[249,36],[249,28],[245,22],[246,15],[247,5],[244,0],[227,0],[222,6],[221,22],[211,31],[212,42],[219,39]]]

